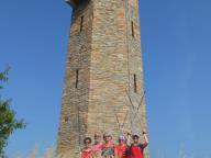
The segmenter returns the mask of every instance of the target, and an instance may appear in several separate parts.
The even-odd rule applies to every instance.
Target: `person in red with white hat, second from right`
[[[115,158],[127,158],[129,146],[125,144],[125,137],[119,137],[119,145],[115,146]]]

